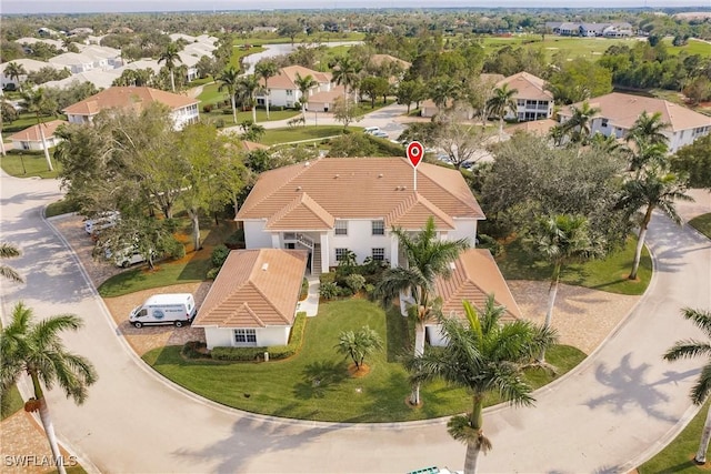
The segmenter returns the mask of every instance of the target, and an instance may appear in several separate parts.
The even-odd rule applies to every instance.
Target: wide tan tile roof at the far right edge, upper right
[[[610,121],[611,125],[624,130],[631,129],[644,111],[650,115],[660,112],[662,122],[670,124],[668,130],[671,132],[711,125],[711,117],[694,112],[683,105],[650,97],[612,92],[592,98],[588,100],[588,103],[590,107],[600,109],[600,112],[595,114],[595,117],[605,118]],[[581,107],[582,102],[574,103],[573,105]],[[559,114],[571,117],[570,105],[561,109]]]

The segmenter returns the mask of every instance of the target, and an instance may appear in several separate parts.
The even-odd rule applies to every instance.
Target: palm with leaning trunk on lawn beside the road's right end
[[[637,279],[647,229],[652,220],[652,211],[659,209],[677,224],[681,224],[674,201],[693,201],[693,198],[687,195],[685,191],[687,182],[675,173],[668,172],[663,167],[653,167],[642,175],[630,179],[623,184],[622,198],[618,208],[627,209],[630,214],[639,209],[644,209],[637,236],[634,262],[628,276],[630,280]]]

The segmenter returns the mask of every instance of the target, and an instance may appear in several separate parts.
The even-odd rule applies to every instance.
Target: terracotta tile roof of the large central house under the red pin
[[[414,200],[412,185],[412,167],[404,158],[323,158],[262,173],[237,219],[270,219],[294,205],[302,193],[334,219],[385,219],[385,225],[392,225],[389,216],[401,218],[411,225],[403,229],[411,230],[421,229],[429,215],[448,226],[457,218],[484,219],[457,170],[421,163],[420,198]],[[425,209],[430,214],[424,215]]]

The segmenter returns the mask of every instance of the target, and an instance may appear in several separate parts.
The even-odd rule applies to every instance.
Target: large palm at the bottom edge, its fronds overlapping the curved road
[[[447,346],[420,354],[407,365],[414,380],[441,379],[471,393],[471,412],[453,416],[447,431],[467,444],[464,473],[473,474],[479,453],[492,447],[483,433],[484,396],[497,393],[513,405],[532,405],[533,389],[521,377],[521,367],[555,342],[555,332],[523,320],[502,324],[504,309],[494,305],[493,295],[481,313],[469,301],[462,304],[467,324],[457,317],[440,320]]]

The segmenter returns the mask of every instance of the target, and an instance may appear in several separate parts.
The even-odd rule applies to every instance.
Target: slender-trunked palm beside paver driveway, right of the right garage
[[[588,219],[581,215],[559,214],[540,219],[529,232],[524,244],[538,256],[553,265],[551,283],[548,289],[548,310],[543,327],[550,327],[553,320],[553,306],[558,294],[558,283],[563,268],[600,255],[598,245],[591,240]],[[545,361],[545,353],[539,356]]]

